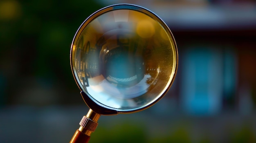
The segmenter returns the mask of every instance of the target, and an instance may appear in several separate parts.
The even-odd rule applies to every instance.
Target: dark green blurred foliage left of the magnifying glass
[[[8,103],[19,92],[13,88],[28,78],[78,89],[70,69],[71,42],[82,22],[102,7],[94,0],[0,1],[0,81],[7,81],[0,90]]]

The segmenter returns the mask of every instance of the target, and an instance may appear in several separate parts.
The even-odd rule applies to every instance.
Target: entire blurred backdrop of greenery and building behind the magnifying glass
[[[71,42],[90,14],[117,3],[166,22],[179,67],[163,99],[101,116],[90,143],[255,143],[255,0],[1,0],[0,143],[70,141],[88,112]]]

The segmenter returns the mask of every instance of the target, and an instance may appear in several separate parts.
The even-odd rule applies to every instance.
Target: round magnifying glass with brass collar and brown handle
[[[177,46],[155,13],[115,4],[90,15],[70,52],[76,84],[90,108],[70,143],[87,143],[101,115],[149,108],[168,91],[177,71]]]

